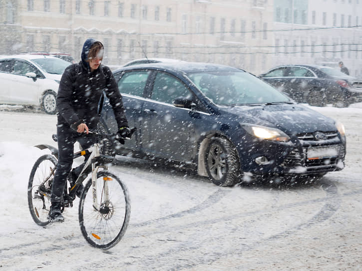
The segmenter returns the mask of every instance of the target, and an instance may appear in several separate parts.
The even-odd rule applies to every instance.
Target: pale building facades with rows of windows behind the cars
[[[107,65],[167,57],[260,74],[343,60],[362,75],[361,11],[360,0],[0,0],[0,55],[60,51],[79,60],[93,37]]]

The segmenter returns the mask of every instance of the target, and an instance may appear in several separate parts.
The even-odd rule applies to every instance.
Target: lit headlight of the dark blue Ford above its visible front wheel
[[[286,133],[277,128],[248,123],[240,123],[240,125],[250,135],[256,136],[260,139],[275,140],[280,142],[288,142],[290,140],[290,137]]]

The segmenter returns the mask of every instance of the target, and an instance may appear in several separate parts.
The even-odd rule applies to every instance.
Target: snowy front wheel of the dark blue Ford
[[[224,137],[214,137],[205,151],[205,167],[210,180],[219,186],[240,182],[239,157],[233,144]]]

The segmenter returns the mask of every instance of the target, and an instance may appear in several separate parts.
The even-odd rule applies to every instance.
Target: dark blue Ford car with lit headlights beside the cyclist
[[[343,125],[248,72],[178,62],[124,67],[114,76],[137,128],[118,154],[180,163],[222,186],[344,168]],[[106,99],[102,117],[117,131]]]

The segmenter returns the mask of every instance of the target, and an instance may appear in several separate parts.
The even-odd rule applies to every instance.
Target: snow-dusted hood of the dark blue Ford
[[[222,108],[242,123],[275,127],[288,135],[336,131],[335,121],[302,105],[262,105]]]

